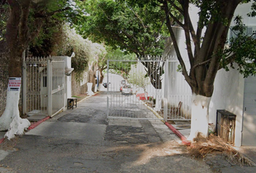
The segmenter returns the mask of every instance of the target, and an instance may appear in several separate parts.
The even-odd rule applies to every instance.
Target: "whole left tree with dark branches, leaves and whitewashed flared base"
[[[7,62],[9,77],[22,76],[22,52],[35,37],[38,36],[48,17],[61,17],[59,14],[70,9],[68,0],[7,0],[9,14],[7,14],[6,30],[2,30],[4,38],[0,40],[2,45],[1,61]],[[2,5],[2,4],[1,4]],[[2,7],[2,6],[1,6]],[[5,25],[5,24],[4,24]],[[2,32],[1,31],[1,32]],[[1,66],[1,68],[4,68]],[[5,76],[8,78],[8,76]],[[4,79],[1,79],[1,82]],[[21,120],[18,110],[20,91],[7,92],[7,106],[0,117],[0,130],[12,128],[7,132],[8,138],[14,134],[23,133],[23,129],[30,124],[28,120]]]

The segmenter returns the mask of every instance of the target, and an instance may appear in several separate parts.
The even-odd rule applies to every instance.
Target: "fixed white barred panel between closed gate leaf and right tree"
[[[175,56],[168,57],[165,68],[166,120],[190,120],[191,117],[191,89],[178,66]]]

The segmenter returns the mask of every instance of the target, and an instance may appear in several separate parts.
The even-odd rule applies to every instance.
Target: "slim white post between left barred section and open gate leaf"
[[[47,113],[48,116],[52,115],[52,62],[47,61]]]

